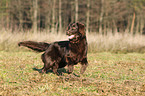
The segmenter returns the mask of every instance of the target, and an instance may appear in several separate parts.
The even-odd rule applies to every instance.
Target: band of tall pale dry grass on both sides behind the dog
[[[60,40],[67,40],[64,34],[53,34],[48,32],[10,32],[1,30],[0,35],[0,50],[18,51],[17,43],[24,40],[33,40],[41,42],[54,42]],[[89,52],[145,52],[145,36],[130,34],[108,34],[107,36],[89,33],[87,34],[89,43]]]

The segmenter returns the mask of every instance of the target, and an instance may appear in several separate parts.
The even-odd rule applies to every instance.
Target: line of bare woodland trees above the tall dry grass
[[[145,0],[0,0],[0,28],[64,32],[71,22],[87,32],[145,33]]]

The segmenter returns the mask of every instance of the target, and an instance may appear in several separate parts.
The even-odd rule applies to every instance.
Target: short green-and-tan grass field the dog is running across
[[[145,96],[145,54],[89,53],[83,75],[40,74],[41,53],[0,51],[0,96]]]

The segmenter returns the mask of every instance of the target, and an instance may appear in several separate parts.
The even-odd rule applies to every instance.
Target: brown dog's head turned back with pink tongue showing
[[[80,22],[71,23],[67,28],[66,34],[71,42],[77,43],[86,37],[85,26]]]

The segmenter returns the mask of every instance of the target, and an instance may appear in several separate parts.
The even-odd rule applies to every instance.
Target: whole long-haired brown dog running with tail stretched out
[[[52,68],[57,75],[58,68],[68,65],[68,73],[73,72],[74,65],[81,63],[80,73],[83,74],[88,66],[87,40],[85,26],[82,23],[71,23],[66,34],[69,41],[59,41],[51,44],[44,42],[24,41],[19,46],[26,46],[38,52],[45,51],[41,58],[44,63],[42,73]]]

